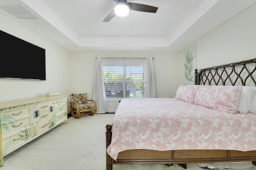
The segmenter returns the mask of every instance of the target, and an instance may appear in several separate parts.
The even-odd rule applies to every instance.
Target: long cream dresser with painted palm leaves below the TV
[[[0,167],[5,155],[67,120],[66,95],[0,102]]]

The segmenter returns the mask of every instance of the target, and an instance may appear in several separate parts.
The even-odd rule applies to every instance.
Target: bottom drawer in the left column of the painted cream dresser
[[[22,143],[26,143],[30,136],[30,127],[26,127],[26,129],[22,129],[19,133],[11,135],[3,139],[3,155],[9,154],[12,149],[19,147]]]

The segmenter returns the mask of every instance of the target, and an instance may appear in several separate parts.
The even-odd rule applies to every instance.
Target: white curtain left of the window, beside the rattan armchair
[[[108,108],[106,106],[106,94],[103,81],[103,71],[101,58],[97,57],[95,75],[94,75],[94,90],[92,99],[95,100],[97,104],[97,114],[98,113],[107,113]]]

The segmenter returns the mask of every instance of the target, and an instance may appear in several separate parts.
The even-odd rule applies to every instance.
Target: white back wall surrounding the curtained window
[[[182,82],[182,58],[175,52],[71,52],[72,83],[75,93],[88,93],[92,99],[94,86],[94,70],[96,57],[154,57],[156,92],[158,98],[170,98],[176,95],[176,90]],[[110,112],[116,110],[118,100],[108,101]]]

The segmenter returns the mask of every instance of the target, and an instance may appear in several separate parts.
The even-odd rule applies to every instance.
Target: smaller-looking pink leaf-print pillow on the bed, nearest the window
[[[200,86],[179,86],[175,98],[194,104],[194,99],[196,97],[196,92]]]

